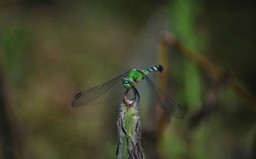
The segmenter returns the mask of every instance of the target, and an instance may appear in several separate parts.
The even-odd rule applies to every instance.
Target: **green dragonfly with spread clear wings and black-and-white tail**
[[[142,80],[147,82],[156,103],[166,112],[167,116],[174,116],[178,119],[184,118],[183,108],[167,93],[160,89],[155,82],[148,76],[148,73],[162,72],[162,65],[155,65],[150,69],[131,69],[125,71],[105,83],[83,90],[72,99],[72,107],[89,106],[115,100],[125,96],[130,90],[133,90],[134,98],[139,103],[140,95],[135,87]]]

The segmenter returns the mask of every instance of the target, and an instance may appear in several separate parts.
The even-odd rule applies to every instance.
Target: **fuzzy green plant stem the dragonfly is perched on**
[[[116,158],[144,158],[140,144],[140,121],[137,102],[124,96],[118,118],[118,146]]]

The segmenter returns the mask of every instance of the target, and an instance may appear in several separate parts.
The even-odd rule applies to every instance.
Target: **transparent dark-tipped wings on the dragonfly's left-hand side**
[[[78,93],[72,99],[72,107],[105,103],[121,97],[126,91],[122,86],[122,79],[127,74],[128,71],[117,75],[99,86]]]

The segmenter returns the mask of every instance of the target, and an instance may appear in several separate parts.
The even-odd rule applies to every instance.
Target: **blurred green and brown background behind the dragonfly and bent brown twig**
[[[167,81],[185,118],[154,126],[162,110],[139,85],[146,158],[256,158],[255,13],[250,1],[2,0],[0,158],[114,158],[120,101],[74,109],[71,99],[161,62],[166,33],[223,76],[167,45],[167,77],[150,77]]]

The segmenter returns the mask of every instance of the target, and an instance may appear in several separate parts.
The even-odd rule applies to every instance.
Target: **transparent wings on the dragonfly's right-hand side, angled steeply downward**
[[[182,107],[172,97],[163,92],[147,75],[141,71],[139,72],[142,74],[143,78],[146,79],[148,88],[151,90],[155,101],[164,109],[167,115],[183,119],[184,112]]]

